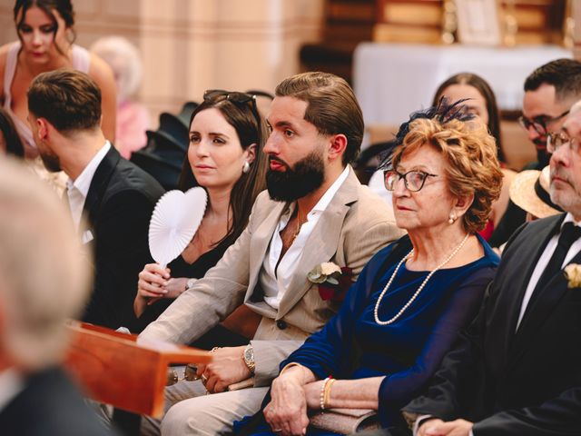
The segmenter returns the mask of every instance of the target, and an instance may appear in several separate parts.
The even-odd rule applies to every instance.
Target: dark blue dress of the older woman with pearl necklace
[[[389,325],[376,323],[373,310],[397,264],[411,250],[409,237],[379,251],[351,286],[340,312],[291,353],[281,368],[298,362],[318,379],[384,377],[379,386],[379,420],[382,427],[401,425],[399,410],[426,389],[458,332],[476,316],[487,284],[494,278],[498,256],[480,236],[478,240],[483,257],[436,272],[417,299]],[[427,275],[402,264],[380,303],[379,320],[396,315]],[[269,395],[263,405],[268,401]],[[263,417],[256,415],[237,422],[235,430],[246,433],[247,422],[255,429],[251,434],[274,434]],[[309,434],[331,433],[313,429]]]

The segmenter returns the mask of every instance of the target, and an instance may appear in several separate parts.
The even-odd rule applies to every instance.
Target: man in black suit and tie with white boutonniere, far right
[[[581,274],[581,102],[547,144],[566,213],[508,242],[477,320],[404,408],[418,435],[581,434],[581,277],[564,273]]]

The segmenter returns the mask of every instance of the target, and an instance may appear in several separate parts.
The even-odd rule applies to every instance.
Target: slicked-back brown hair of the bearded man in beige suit
[[[363,114],[350,85],[335,74],[309,72],[284,79],[277,96],[294,97],[309,104],[304,119],[320,134],[344,134],[347,147],[343,165],[355,160],[363,139]]]

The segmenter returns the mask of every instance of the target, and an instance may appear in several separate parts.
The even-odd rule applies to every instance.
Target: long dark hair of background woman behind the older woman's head
[[[438,105],[439,99],[442,97],[442,93],[446,88],[448,88],[448,86],[451,86],[452,84],[468,84],[469,86],[475,88],[478,93],[484,97],[484,101],[487,104],[488,131],[497,141],[498,161],[505,163],[505,154],[502,151],[502,139],[500,137],[500,114],[498,112],[497,97],[494,94],[494,91],[492,91],[490,85],[486,80],[477,74],[454,74],[443,84],[439,85],[438,91],[436,91],[436,94],[434,95],[432,106]]]

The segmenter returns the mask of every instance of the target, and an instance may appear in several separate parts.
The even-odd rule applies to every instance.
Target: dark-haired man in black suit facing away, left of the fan
[[[28,90],[28,111],[44,166],[69,176],[64,198],[82,242],[94,249],[94,292],[83,320],[130,325],[137,274],[152,262],[148,227],[162,186],[105,141],[101,92],[88,75],[39,74]]]

